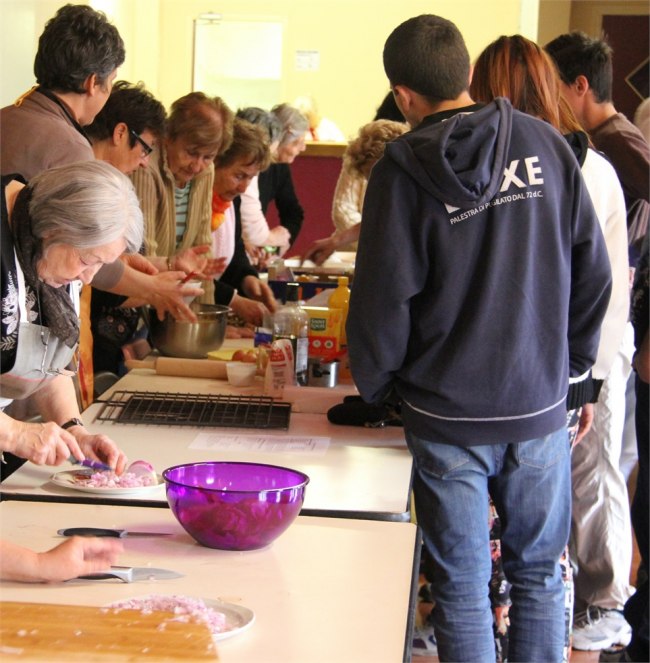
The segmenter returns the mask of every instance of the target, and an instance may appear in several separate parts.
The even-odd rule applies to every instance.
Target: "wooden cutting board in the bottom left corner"
[[[0,658],[20,661],[216,661],[205,624],[80,605],[0,601]],[[161,624],[164,626],[161,627]]]

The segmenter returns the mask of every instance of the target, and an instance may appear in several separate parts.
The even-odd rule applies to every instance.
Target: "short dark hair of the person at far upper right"
[[[556,37],[544,49],[555,60],[567,85],[584,76],[598,103],[612,100],[613,51],[606,41],[574,31]]]

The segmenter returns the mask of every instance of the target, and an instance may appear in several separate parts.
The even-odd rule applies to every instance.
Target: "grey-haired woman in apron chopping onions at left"
[[[67,367],[79,336],[79,281],[141,245],[133,186],[100,161],[45,171],[26,187],[3,182],[1,237],[0,409],[31,396],[44,423],[0,411],[0,451],[48,465],[89,457],[122,472],[124,454],[84,428]]]

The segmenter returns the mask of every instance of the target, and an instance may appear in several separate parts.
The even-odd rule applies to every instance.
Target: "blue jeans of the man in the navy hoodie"
[[[495,660],[488,490],[501,519],[503,569],[512,584],[511,661],[562,660],[559,565],[571,522],[566,428],[517,444],[455,447],[408,430],[418,524],[433,559],[432,621],[441,661]]]

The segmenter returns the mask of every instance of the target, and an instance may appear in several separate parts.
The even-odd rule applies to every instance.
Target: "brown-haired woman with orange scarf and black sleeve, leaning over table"
[[[239,197],[271,160],[266,132],[235,118],[233,141],[217,157],[212,191],[212,247],[228,266],[215,282],[215,301],[230,306],[243,320],[261,325],[264,313],[274,311],[275,298],[250,264],[242,240]],[[239,294],[241,293],[241,294]]]

